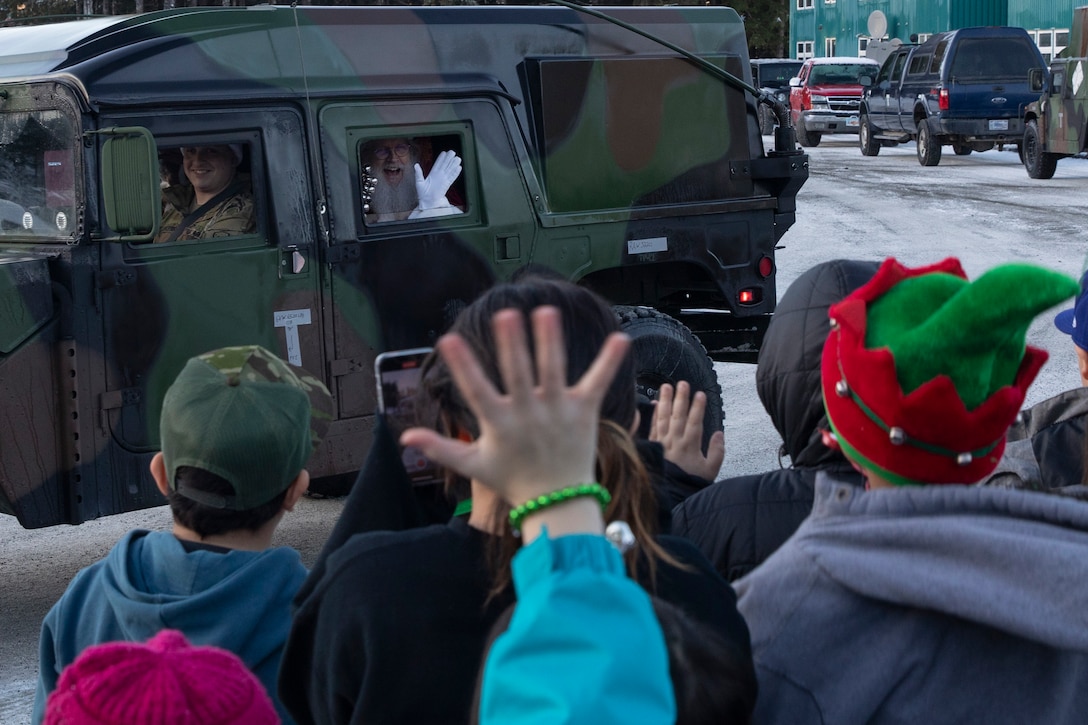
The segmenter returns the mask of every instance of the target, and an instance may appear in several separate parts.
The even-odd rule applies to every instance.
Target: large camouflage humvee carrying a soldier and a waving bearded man
[[[374,357],[433,344],[524,269],[603,294],[642,393],[691,380],[720,426],[713,360],[754,359],[808,173],[780,105],[764,149],[757,102],[728,8],[255,5],[0,30],[0,511],[40,527],[161,504],[164,391],[236,344],[325,381],[336,419],[310,470],[349,479]],[[458,212],[372,213],[378,139],[423,165],[456,151]],[[211,146],[248,179],[252,228],[153,243],[183,149]]]

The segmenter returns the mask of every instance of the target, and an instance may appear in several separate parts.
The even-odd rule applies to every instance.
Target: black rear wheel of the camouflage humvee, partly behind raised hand
[[[721,430],[725,414],[721,407],[721,385],[714,360],[687,325],[653,307],[613,307],[620,328],[631,336],[634,355],[635,384],[640,395],[657,400],[663,383],[676,385],[687,380],[693,391],[706,393],[706,415],[703,417],[703,451],[710,434]],[[648,420],[643,420],[645,430]]]

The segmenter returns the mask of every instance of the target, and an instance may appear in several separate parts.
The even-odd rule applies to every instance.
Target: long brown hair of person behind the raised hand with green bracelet
[[[499,284],[465,308],[450,331],[466,340],[487,378],[502,390],[492,318],[502,309],[519,309],[528,324],[530,312],[544,305],[557,307],[560,311],[567,345],[567,380],[573,383],[589,369],[605,337],[619,329],[608,304],[589,290],[565,280],[543,277],[526,277],[517,282]],[[532,347],[532,335],[527,336]],[[535,359],[535,352],[531,351],[531,354]],[[432,356],[426,361],[423,377],[425,389],[437,407],[438,430],[454,437],[479,435],[475,418],[438,356]],[[634,360],[628,356],[601,406],[596,474],[599,482],[613,494],[611,503],[605,511],[605,520],[626,521],[634,534],[635,545],[625,555],[629,572],[634,576],[636,563],[645,560],[653,581],[657,562],[665,561],[673,566],[679,566],[679,563],[654,538],[657,534],[657,500],[650,475],[629,433],[634,426],[636,410]],[[448,475],[447,484],[455,497],[465,497],[468,481]],[[487,564],[492,573],[491,598],[510,585],[510,562],[520,546],[508,524],[509,511],[508,505],[499,502],[490,512],[491,530],[500,532],[491,538],[487,549]]]

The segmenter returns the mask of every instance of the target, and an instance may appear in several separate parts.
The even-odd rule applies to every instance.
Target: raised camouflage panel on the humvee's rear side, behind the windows
[[[734,57],[713,62],[741,74]],[[670,58],[576,58],[530,59],[526,74],[552,211],[752,193],[751,176],[729,170],[749,153],[743,93],[705,71]]]

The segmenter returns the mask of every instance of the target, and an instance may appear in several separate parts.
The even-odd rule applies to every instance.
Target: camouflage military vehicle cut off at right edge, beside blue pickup
[[[1043,70],[1031,72],[1031,90],[1040,94],[1024,112],[1021,159],[1031,179],[1051,179],[1059,159],[1088,151],[1088,7],[1073,9],[1070,47]]]

